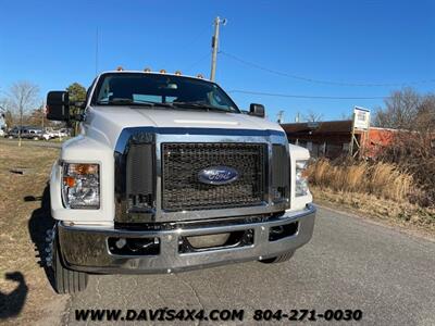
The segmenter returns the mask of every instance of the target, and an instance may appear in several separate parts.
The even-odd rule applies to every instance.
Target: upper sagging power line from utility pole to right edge
[[[310,78],[310,77],[304,77],[304,76],[299,76],[299,75],[294,75],[294,74],[289,74],[286,72],[279,72],[279,71],[275,71],[272,68],[268,68],[265,66],[259,65],[257,63],[252,63],[249,61],[246,61],[244,59],[240,59],[234,54],[224,52],[224,51],[220,51],[221,54],[233,59],[235,61],[238,61],[239,63],[243,63],[247,66],[260,70],[260,71],[264,71],[271,74],[275,74],[275,75],[279,75],[283,77],[289,77],[293,79],[297,79],[297,80],[303,80],[303,82],[308,82],[308,83],[314,83],[314,84],[323,84],[323,85],[334,85],[334,86],[349,86],[349,87],[403,87],[403,86],[410,86],[410,85],[418,85],[418,84],[428,84],[428,83],[435,83],[435,79],[424,79],[424,80],[414,80],[414,82],[407,82],[407,83],[345,83],[345,82],[334,82],[334,80],[322,80],[322,79],[315,79],[315,78]]]

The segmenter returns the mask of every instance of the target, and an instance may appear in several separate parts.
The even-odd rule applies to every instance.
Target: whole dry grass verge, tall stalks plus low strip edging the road
[[[316,201],[338,203],[435,234],[435,210],[413,203],[420,190],[412,175],[400,172],[395,164],[319,160],[311,164],[308,175]]]

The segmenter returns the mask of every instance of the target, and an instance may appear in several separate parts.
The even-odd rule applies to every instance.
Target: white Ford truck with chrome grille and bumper
[[[70,116],[70,105],[83,114]],[[215,83],[179,73],[100,74],[84,103],[50,91],[47,117],[80,121],[50,177],[55,290],[88,274],[278,263],[312,236],[309,152]]]

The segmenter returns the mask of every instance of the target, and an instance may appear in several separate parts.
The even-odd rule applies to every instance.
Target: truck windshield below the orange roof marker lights
[[[102,75],[94,92],[92,104],[240,112],[233,100],[214,83],[148,73]]]

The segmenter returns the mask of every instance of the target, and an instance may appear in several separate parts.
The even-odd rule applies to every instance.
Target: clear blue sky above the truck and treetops
[[[281,110],[285,122],[339,120],[406,86],[435,90],[432,0],[0,0],[0,97],[20,80],[41,99],[88,87],[120,65],[209,76],[215,16],[227,20],[216,83],[240,109],[264,104],[270,120]]]

